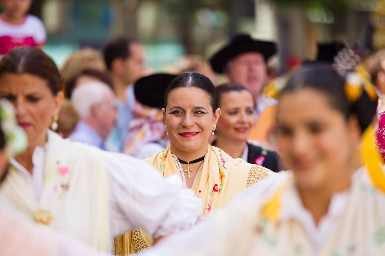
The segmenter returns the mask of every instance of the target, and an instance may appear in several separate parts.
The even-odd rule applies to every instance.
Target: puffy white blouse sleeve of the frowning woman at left
[[[178,175],[163,178],[151,165],[106,152],[110,178],[111,235],[141,228],[157,238],[191,227],[202,202],[182,189]]]

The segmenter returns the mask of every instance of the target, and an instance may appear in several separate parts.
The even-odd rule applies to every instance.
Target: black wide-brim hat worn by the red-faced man
[[[224,73],[224,66],[230,59],[247,52],[261,53],[266,62],[275,55],[276,48],[276,44],[273,42],[253,40],[250,35],[235,35],[230,38],[228,45],[211,57],[211,68],[216,73]]]

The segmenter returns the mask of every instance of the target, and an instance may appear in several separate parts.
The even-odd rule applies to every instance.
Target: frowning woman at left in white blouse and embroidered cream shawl
[[[164,179],[128,155],[49,130],[58,128],[64,95],[59,70],[43,51],[14,48],[0,60],[0,97],[15,106],[28,137],[0,188],[7,208],[99,251],[109,251],[115,235],[137,226],[159,238],[195,223],[200,200],[182,190],[176,175]]]

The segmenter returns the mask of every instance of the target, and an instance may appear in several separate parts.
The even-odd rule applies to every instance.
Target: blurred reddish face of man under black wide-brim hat
[[[247,87],[254,99],[262,92],[267,82],[266,64],[257,52],[241,53],[229,61],[226,75],[231,83]]]

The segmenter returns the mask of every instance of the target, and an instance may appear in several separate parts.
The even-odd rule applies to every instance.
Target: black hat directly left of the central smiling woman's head
[[[166,88],[176,77],[171,74],[153,74],[139,79],[134,84],[135,98],[145,106],[163,108]]]

